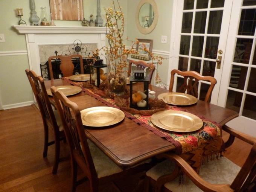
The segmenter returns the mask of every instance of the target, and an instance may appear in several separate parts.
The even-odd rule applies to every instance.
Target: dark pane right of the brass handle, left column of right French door
[[[253,39],[238,38],[236,41],[234,62],[248,64],[251,55],[252,44]]]

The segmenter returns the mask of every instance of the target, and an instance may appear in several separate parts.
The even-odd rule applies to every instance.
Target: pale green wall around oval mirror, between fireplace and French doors
[[[141,39],[152,39],[153,50],[168,51],[170,49],[171,38],[171,21],[172,21],[172,7],[173,0],[155,0],[158,9],[158,22],[155,29],[149,34],[142,34],[136,26],[135,17],[136,9],[139,4],[139,0],[128,0],[128,21],[127,21],[127,35],[130,40],[134,40],[136,37]],[[161,36],[167,36],[167,43],[161,43]],[[131,46],[130,43],[128,45]],[[169,56],[162,55],[165,58]],[[157,71],[163,83],[168,84],[168,65],[169,59],[163,60],[162,65],[158,65]]]

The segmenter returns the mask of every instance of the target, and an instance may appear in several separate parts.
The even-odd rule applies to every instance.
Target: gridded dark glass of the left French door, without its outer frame
[[[201,75],[217,78],[216,58],[221,37],[224,3],[225,0],[184,0],[182,26],[179,33],[179,70],[193,70]],[[199,82],[198,99],[204,100],[209,85],[209,82]]]

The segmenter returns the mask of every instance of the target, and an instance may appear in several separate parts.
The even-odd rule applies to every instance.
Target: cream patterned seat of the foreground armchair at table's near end
[[[174,171],[174,168],[174,162],[165,160],[149,169],[146,175],[156,181],[159,177],[170,174]],[[238,165],[231,162],[226,157],[221,157],[201,165],[199,175],[203,180],[213,184],[231,184],[240,169]],[[181,184],[179,184],[179,178],[177,177],[165,183],[164,186],[172,192],[202,192],[186,175],[183,175]]]

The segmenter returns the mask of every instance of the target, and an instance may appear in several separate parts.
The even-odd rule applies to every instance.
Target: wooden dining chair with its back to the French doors
[[[200,73],[197,73],[195,71],[180,71],[180,70],[174,69],[171,71],[171,81],[170,81],[170,85],[169,85],[169,92],[172,92],[172,90],[173,90],[175,74],[181,75],[184,77],[183,84],[181,85],[181,87],[178,88],[178,90],[176,92],[185,93],[187,91],[187,94],[193,95],[196,98],[198,97],[198,90],[197,90],[198,81],[200,81],[200,80],[210,81],[211,85],[210,85],[210,87],[206,93],[205,99],[204,99],[205,102],[209,101],[212,90],[213,90],[215,84],[217,83],[217,81],[214,77],[202,76],[202,75],[200,75]],[[187,82],[187,79],[188,79],[188,82]]]

